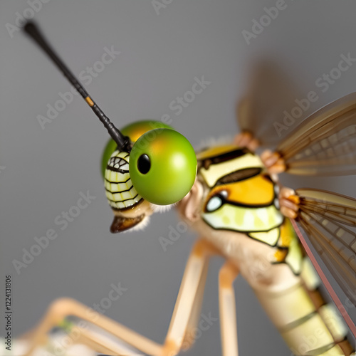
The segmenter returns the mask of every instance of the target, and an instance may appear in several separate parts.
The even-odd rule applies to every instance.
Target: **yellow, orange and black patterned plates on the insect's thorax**
[[[278,185],[266,174],[258,155],[226,145],[204,150],[197,158],[199,179],[209,189],[201,212],[206,224],[275,247],[273,263],[286,262],[299,273],[298,239],[279,211]]]

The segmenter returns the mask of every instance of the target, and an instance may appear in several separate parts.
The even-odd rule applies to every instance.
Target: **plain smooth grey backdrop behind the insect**
[[[238,132],[235,102],[246,89],[251,61],[275,61],[305,96],[309,90],[320,93],[315,80],[337,66],[340,54],[356,57],[355,1],[286,4],[250,45],[241,31],[251,31],[252,20],[276,1],[174,0],[157,15],[149,0],[51,0],[36,20],[77,75],[100,60],[105,46],[121,51],[87,87],[117,126],[169,114],[174,127],[199,145],[206,137]],[[46,115],[46,105],[60,99],[58,93],[69,85],[23,33],[9,35],[6,23],[14,25],[16,11],[23,14],[28,7],[26,1],[0,3],[0,166],[6,167],[0,170],[1,310],[8,274],[13,279],[16,335],[31,328],[59,296],[93,305],[108,296],[111,283],[120,282],[128,290],[105,314],[162,342],[194,234],[182,234],[163,251],[158,238],[168,237],[169,225],[177,226],[174,211],[153,216],[145,231],[110,234],[112,212],[99,169],[108,136],[78,96],[41,129],[37,115]],[[169,103],[201,75],[211,84],[175,115]],[[355,78],[356,65],[320,93],[313,108],[355,91]],[[355,177],[284,177],[283,182],[355,197]],[[61,231],[54,219],[87,190],[96,199]],[[21,261],[22,249],[31,248],[34,237],[47,229],[56,229],[58,238],[18,275],[12,261]],[[214,317],[221,263],[219,258],[211,263],[202,310]],[[241,279],[236,299],[241,355],[289,355]],[[216,322],[187,355],[220,355],[219,340]]]

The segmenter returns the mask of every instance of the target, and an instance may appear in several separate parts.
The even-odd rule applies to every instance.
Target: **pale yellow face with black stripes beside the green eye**
[[[129,153],[116,150],[106,167],[106,197],[112,209],[116,211],[131,209],[142,200],[130,179],[129,159]]]

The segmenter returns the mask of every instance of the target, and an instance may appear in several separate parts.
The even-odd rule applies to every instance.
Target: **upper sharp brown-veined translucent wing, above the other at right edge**
[[[314,112],[277,147],[286,172],[356,174],[356,93]]]

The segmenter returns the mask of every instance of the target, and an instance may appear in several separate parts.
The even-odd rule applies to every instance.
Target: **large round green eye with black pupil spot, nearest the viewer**
[[[192,189],[197,157],[183,135],[159,128],[146,132],[135,142],[129,171],[142,198],[157,205],[173,204]]]

